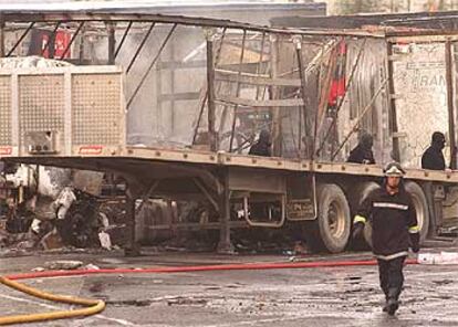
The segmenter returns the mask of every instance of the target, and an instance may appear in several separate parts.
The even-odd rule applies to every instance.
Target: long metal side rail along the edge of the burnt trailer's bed
[[[95,157],[22,157],[17,160],[23,164],[39,164],[55,167],[72,167],[75,169],[100,169],[110,167],[118,171],[150,175],[157,179],[194,177],[202,173],[209,175],[209,168],[235,167],[251,169],[252,173],[261,171],[289,172],[316,172],[323,176],[346,177],[383,177],[381,165],[356,165],[342,162],[316,162],[309,160],[291,160],[282,158],[266,158],[229,154],[197,152],[194,150],[166,150],[128,148],[128,152],[121,156]],[[12,161],[14,161],[14,158]],[[11,160],[10,159],[10,160]],[[202,166],[204,165],[204,166]],[[205,168],[202,168],[205,167]],[[458,182],[458,171],[437,171],[408,168],[406,179],[438,181],[446,183]]]

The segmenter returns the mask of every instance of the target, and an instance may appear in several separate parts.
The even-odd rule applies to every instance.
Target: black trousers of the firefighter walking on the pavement
[[[385,293],[386,299],[388,297],[395,297],[397,299],[400,295],[404,284],[403,267],[405,260],[405,256],[393,260],[377,260],[381,288]]]

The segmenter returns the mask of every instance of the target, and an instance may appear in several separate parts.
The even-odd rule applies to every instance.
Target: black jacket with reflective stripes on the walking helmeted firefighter
[[[374,254],[392,260],[408,254],[408,247],[418,246],[419,229],[414,204],[404,188],[389,194],[384,187],[372,192],[362,203],[355,223],[372,222]]]

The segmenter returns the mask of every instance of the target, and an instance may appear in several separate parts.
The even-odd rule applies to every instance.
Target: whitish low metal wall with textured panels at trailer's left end
[[[123,94],[116,66],[0,70],[0,156],[119,154]]]

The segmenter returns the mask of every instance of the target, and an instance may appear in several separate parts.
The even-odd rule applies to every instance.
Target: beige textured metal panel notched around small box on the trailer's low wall
[[[24,145],[29,131],[59,131],[64,128],[64,76],[19,76],[20,141]]]

